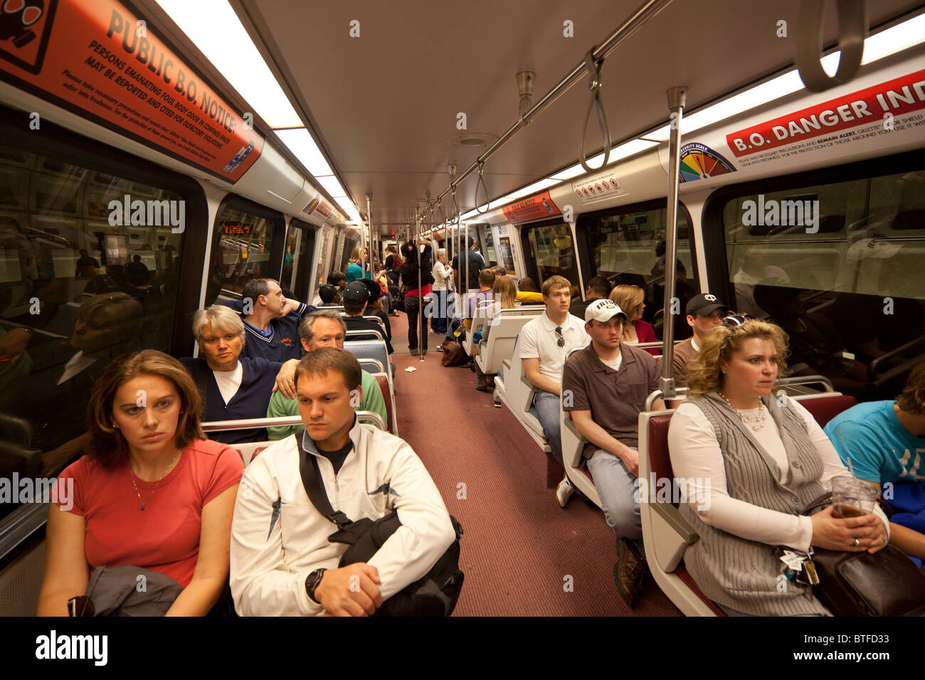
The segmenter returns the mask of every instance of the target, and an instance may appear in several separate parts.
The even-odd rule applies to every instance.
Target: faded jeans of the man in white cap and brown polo
[[[618,537],[642,538],[638,478],[630,474],[617,456],[601,449],[588,459],[587,469],[594,477],[607,525]]]

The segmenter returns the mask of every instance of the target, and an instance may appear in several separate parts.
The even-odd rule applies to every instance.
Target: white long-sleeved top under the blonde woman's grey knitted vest
[[[796,400],[790,400],[796,412],[807,426],[809,440],[816,447],[822,459],[823,469],[820,484],[832,489],[832,478],[850,474],[838,452],[822,428],[806,408]],[[758,414],[758,409],[743,411],[746,415]],[[782,484],[790,481],[790,470],[781,435],[771,415],[764,428],[753,432],[765,451],[778,465],[778,480]],[[812,520],[807,515],[779,513],[729,496],[726,489],[725,465],[716,433],[707,416],[692,402],[682,403],[672,415],[668,430],[668,448],[671,451],[672,471],[679,480],[699,480],[693,488],[687,488],[687,498],[706,499],[690,507],[706,524],[741,538],[759,541],[768,545],[785,545],[806,552],[812,540]],[[695,495],[696,494],[696,495]],[[874,513],[886,525],[887,536],[890,522],[877,507]]]

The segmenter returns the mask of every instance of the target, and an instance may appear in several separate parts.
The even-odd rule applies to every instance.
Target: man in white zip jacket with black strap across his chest
[[[350,352],[305,354],[296,370],[306,431],[263,451],[241,479],[231,526],[230,576],[243,616],[364,616],[425,575],[455,532],[424,464],[408,444],[356,422],[360,365]],[[398,512],[401,527],[368,563],[338,568],[347,550],[302,487],[299,447],[317,457],[327,498],[353,521]]]

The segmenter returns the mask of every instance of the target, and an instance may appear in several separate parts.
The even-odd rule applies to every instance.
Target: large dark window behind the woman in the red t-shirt
[[[0,476],[56,475],[105,366],[170,351],[185,198],[0,145]]]

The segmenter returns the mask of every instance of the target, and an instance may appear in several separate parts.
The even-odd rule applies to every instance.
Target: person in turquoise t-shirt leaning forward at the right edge
[[[925,513],[925,507],[907,505],[925,490],[925,362],[912,369],[895,402],[859,403],[836,415],[824,431],[858,479],[880,488],[887,501],[901,497],[904,514]],[[925,535],[909,528],[913,525],[919,527],[894,514],[890,542],[925,559]]]

